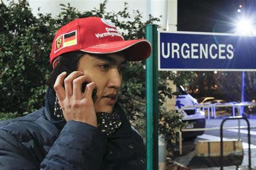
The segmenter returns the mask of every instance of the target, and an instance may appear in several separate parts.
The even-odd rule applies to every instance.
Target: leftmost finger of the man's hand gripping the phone
[[[59,100],[65,99],[65,90],[63,88],[63,80],[66,75],[67,75],[66,72],[63,72],[60,75],[58,75],[56,82],[54,83],[54,86],[53,86]]]

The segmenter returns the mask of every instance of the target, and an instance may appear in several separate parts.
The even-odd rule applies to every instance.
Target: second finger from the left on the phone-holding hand
[[[76,79],[78,76],[83,75],[81,71],[73,71],[71,74],[64,79],[64,86],[65,86],[65,94],[68,97],[73,95],[73,80]]]

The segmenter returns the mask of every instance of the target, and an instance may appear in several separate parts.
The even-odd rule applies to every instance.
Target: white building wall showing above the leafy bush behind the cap
[[[60,13],[62,6],[60,4],[71,4],[72,7],[76,7],[79,11],[90,11],[94,8],[99,8],[100,3],[103,0],[27,0],[32,8],[34,15],[38,14],[38,8],[42,14],[52,14],[56,16]],[[173,1],[173,0],[169,0]],[[3,0],[4,3],[9,3],[7,0]],[[124,8],[124,3],[128,3],[129,11],[139,10],[143,16],[143,21],[148,19],[148,15],[151,14],[154,17],[162,15],[161,22],[157,23],[161,27],[166,28],[167,25],[167,3],[168,0],[108,0],[106,3],[106,11],[120,11]]]

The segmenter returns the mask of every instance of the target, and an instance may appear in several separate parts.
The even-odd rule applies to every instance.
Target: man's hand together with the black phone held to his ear
[[[97,127],[97,117],[92,97],[93,94],[96,94],[96,91],[93,92],[96,84],[91,82],[90,78],[86,77],[81,71],[71,72],[63,64],[59,64],[52,71],[47,84],[55,90],[65,120],[85,122]],[[82,86],[84,86],[84,92],[82,92]]]

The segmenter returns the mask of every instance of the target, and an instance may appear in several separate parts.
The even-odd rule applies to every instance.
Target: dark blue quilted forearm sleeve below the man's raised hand
[[[41,169],[100,169],[106,137],[98,128],[69,121],[55,141]]]

